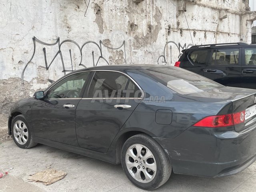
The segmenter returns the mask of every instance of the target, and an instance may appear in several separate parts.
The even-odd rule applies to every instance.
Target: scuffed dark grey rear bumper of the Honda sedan
[[[256,161],[256,125],[243,132],[190,127],[174,139],[155,138],[170,158],[174,173],[220,177]]]

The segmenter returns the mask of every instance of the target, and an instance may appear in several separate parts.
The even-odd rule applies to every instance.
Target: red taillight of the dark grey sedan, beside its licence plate
[[[208,116],[198,121],[193,126],[208,128],[234,126],[244,122],[244,113],[245,111],[241,111],[233,114]]]

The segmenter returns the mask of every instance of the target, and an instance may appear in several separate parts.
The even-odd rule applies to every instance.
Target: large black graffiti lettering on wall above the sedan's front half
[[[101,40],[100,40],[99,44],[94,42],[94,41],[87,41],[84,44],[82,44],[82,46],[79,46],[79,44],[77,42],[75,42],[74,40],[64,40],[64,41],[60,42],[60,38],[57,38],[56,42],[49,44],[49,43],[42,42],[42,41],[38,40],[36,37],[33,37],[32,39],[33,39],[33,44],[34,44],[34,52],[33,52],[32,57],[30,58],[30,60],[28,61],[28,63],[26,64],[26,66],[24,67],[24,69],[22,71],[22,76],[21,76],[22,83],[24,83],[24,72],[25,72],[26,68],[28,67],[28,65],[32,62],[32,59],[35,56],[35,53],[36,53],[36,43],[42,44],[44,46],[55,46],[55,45],[58,45],[58,51],[56,52],[56,54],[54,55],[54,57],[50,61],[50,63],[47,61],[46,48],[45,47],[43,48],[45,68],[46,68],[46,70],[49,70],[50,66],[52,65],[52,63],[54,62],[56,57],[59,55],[60,59],[61,59],[61,63],[62,63],[62,72],[64,73],[64,75],[66,75],[66,72],[73,71],[73,61],[72,61],[72,50],[71,49],[69,49],[69,55],[70,55],[69,65],[71,65],[71,70],[66,70],[66,63],[64,62],[63,55],[62,55],[62,46],[65,43],[74,44],[74,46],[76,46],[79,49],[79,52],[80,52],[79,66],[82,66],[84,68],[86,68],[86,66],[84,64],[82,64],[82,58],[83,58],[82,50],[85,49],[86,45],[88,45],[88,44],[96,45],[96,48],[98,49],[98,51],[100,53],[98,58],[95,58],[94,51],[92,51],[92,64],[93,64],[93,66],[97,66],[97,64],[99,63],[100,60],[104,60],[104,62],[106,62],[106,64],[109,65],[109,62],[102,55],[102,48],[103,47],[106,47],[106,48],[108,48],[110,50],[118,50],[118,49],[122,48],[123,52],[124,52],[124,63],[126,64],[125,41],[123,41],[121,46],[119,46],[117,48],[112,48],[112,47],[104,44]]]

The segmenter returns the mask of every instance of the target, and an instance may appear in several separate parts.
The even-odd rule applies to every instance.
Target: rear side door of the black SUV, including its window
[[[204,76],[225,86],[241,87],[241,48],[213,49]]]

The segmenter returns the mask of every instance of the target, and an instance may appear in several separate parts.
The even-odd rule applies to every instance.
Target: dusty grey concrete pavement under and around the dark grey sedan
[[[52,164],[67,176],[49,186],[28,182],[29,174]],[[12,168],[10,170],[10,168]],[[0,192],[142,192],[126,178],[121,165],[66,152],[38,144],[21,149],[10,140],[0,144],[0,170],[9,174],[0,178]],[[158,192],[256,192],[256,162],[246,170],[222,178],[201,178],[172,174]]]

